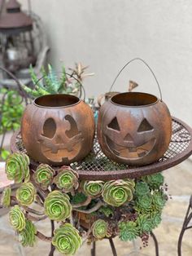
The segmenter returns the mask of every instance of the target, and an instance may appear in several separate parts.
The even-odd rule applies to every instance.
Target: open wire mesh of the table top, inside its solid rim
[[[179,121],[172,119],[172,139],[167,152],[165,152],[164,157],[159,159],[159,162],[168,161],[172,157],[178,157],[181,152],[184,152],[185,149],[189,147],[191,139],[189,130],[187,130]],[[16,136],[15,146],[17,150],[26,152],[20,134]],[[158,162],[155,164],[158,164]],[[94,148],[92,152],[90,152],[84,160],[72,163],[71,167],[73,170],[86,170],[94,173],[107,170],[129,170],[133,168],[133,166],[117,164],[105,157],[98,144],[97,136],[94,138]]]

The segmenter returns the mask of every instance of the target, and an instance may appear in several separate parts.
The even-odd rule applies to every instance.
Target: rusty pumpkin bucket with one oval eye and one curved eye
[[[53,166],[80,161],[94,142],[94,115],[73,95],[45,95],[24,111],[21,135],[28,155]]]

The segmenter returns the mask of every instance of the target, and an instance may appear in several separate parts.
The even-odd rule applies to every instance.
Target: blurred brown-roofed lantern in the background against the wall
[[[35,64],[32,29],[32,18],[21,11],[19,2],[9,0],[0,18],[0,35],[4,66],[13,73]]]

